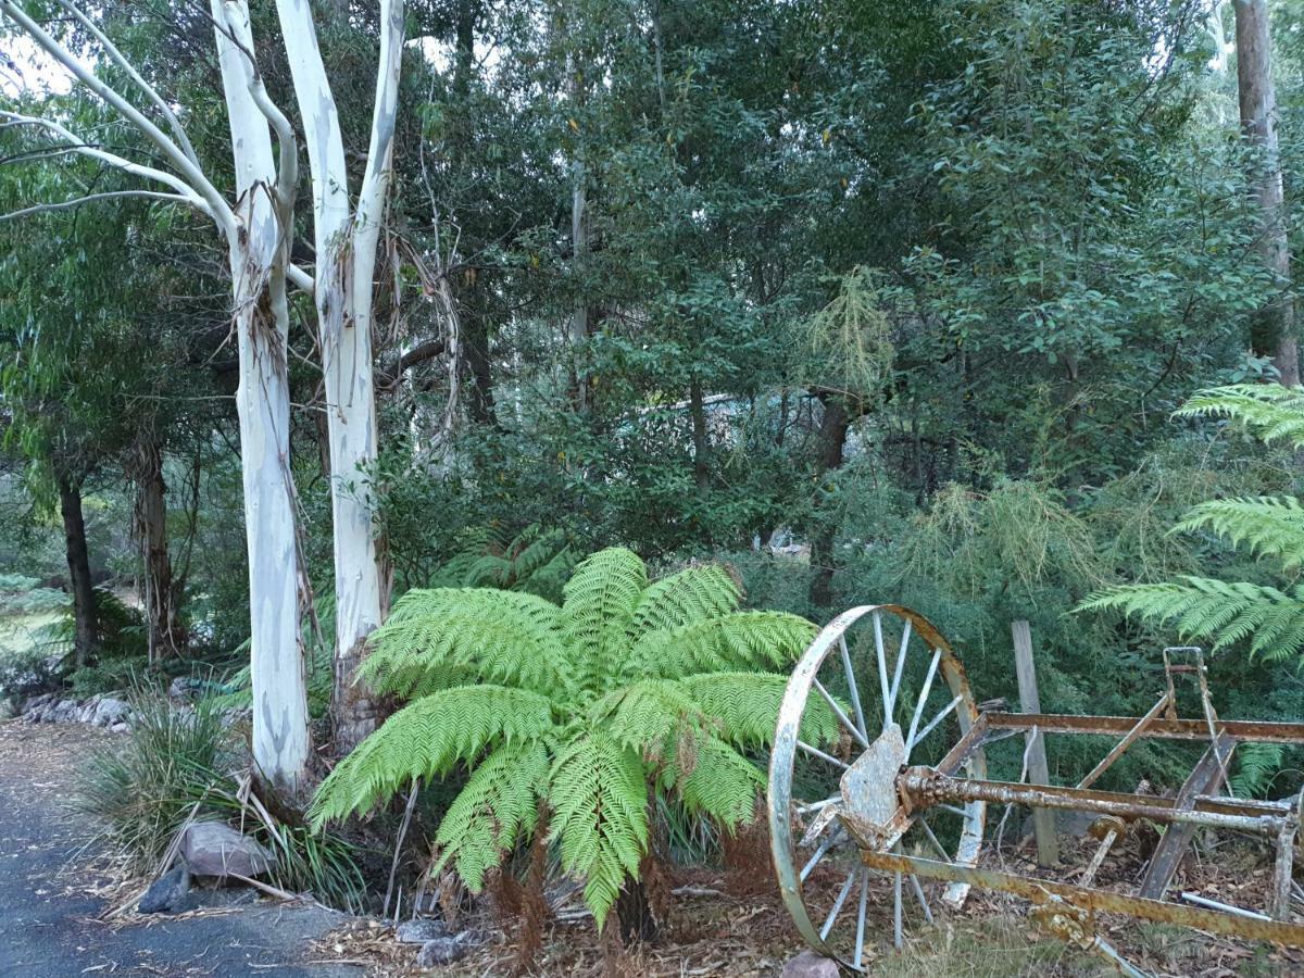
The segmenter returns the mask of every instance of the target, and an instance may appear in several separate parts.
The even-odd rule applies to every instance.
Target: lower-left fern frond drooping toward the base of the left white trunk
[[[546,696],[505,686],[456,686],[424,696],[391,716],[326,776],[310,819],[365,812],[413,778],[446,775],[503,742],[537,739],[552,730]]]

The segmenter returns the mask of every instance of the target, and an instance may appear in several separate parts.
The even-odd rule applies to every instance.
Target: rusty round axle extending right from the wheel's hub
[[[1209,828],[1236,829],[1275,836],[1287,820],[1275,815],[1228,815],[1201,808],[1179,810],[1171,799],[1134,794],[1115,794],[1094,789],[1078,790],[1058,785],[1021,785],[1012,781],[981,781],[945,777],[931,768],[908,768],[897,777],[897,786],[918,807],[944,802],[988,802],[992,805],[1025,805],[1030,808],[1065,808],[1118,815],[1124,819],[1151,819],[1162,823],[1187,823]]]

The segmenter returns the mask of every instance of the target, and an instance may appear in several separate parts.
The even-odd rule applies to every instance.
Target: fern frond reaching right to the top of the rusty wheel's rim
[[[647,632],[634,644],[632,669],[642,675],[767,669],[792,665],[816,629],[786,612],[734,612],[677,629]]]

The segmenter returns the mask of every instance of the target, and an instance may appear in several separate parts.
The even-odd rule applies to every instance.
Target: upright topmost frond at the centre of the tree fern
[[[632,640],[634,608],[647,585],[647,566],[621,546],[585,558],[566,582],[562,627],[583,664],[585,689],[602,689],[618,674]]]

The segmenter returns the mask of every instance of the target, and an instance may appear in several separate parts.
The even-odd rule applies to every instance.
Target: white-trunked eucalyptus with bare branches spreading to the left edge
[[[287,279],[312,288],[312,279],[289,262],[292,207],[297,185],[293,130],[267,98],[253,60],[245,0],[213,0],[223,98],[231,123],[236,197],[228,202],[203,172],[168,102],[128,63],[86,13],[69,0],[59,5],[98,42],[100,53],[143,94],[140,108],[98,77],[85,56],[46,30],[18,0],[0,0],[0,14],[162,154],[167,170],[132,162],[81,138],[57,119],[0,112],[8,126],[31,126],[52,136],[51,156],[82,154],[167,190],[133,189],[91,194],[27,207],[17,214],[76,206],[87,200],[147,197],[186,203],[210,216],[222,232],[231,267],[232,319],[240,357],[236,404],[244,475],[245,533],[249,546],[252,627],[253,758],[271,785],[295,793],[306,780],[308,702],[299,631],[299,557],[295,490],[289,473],[289,383],[286,361],[289,313]],[[162,119],[164,132],[153,119]],[[275,130],[279,160],[273,154]],[[17,216],[17,214],[8,216]]]

